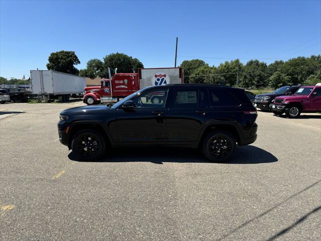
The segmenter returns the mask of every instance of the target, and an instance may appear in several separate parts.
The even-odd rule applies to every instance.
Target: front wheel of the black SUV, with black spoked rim
[[[90,129],[76,133],[71,142],[72,152],[79,161],[99,160],[103,156],[105,148],[106,142],[103,136]]]

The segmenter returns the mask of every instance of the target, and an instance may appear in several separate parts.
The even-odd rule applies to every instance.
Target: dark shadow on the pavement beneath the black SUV
[[[68,158],[77,161],[73,153]],[[211,163],[197,149],[187,148],[115,148],[108,150],[104,157],[96,162],[163,162]],[[254,146],[237,147],[236,153],[226,164],[259,164],[277,162],[271,153]]]

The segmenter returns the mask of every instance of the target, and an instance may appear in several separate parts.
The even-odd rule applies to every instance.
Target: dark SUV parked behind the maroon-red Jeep
[[[294,94],[299,87],[300,86],[283,86],[274,90],[272,93],[257,94],[255,96],[254,106],[262,110],[270,110],[269,104],[275,97]]]

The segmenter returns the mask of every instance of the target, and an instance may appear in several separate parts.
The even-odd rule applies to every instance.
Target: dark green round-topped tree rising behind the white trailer
[[[80,61],[74,51],[58,51],[51,53],[48,58],[47,69],[56,70],[68,74],[78,74],[79,70],[74,65]]]

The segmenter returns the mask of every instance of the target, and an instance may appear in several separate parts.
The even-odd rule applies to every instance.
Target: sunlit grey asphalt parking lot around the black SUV
[[[77,162],[57,122],[81,104],[0,105],[0,240],[321,239],[320,114],[259,112],[226,164],[188,149]]]

